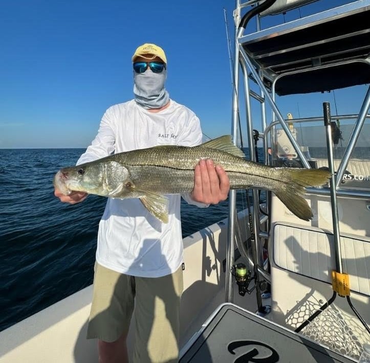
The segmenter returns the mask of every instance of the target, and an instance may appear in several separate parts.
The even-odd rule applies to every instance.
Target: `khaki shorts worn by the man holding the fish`
[[[181,267],[172,275],[142,278],[96,263],[87,337],[115,342],[128,333],[134,313],[133,361],[177,362],[182,291]]]

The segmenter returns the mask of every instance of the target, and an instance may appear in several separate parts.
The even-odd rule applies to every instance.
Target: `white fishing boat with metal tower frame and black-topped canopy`
[[[262,145],[266,164],[333,176],[308,189],[311,221],[258,190],[247,193],[254,208],[236,213],[232,191],[227,219],[184,238],[180,362],[358,361],[370,342],[370,0],[324,2],[267,28],[320,0],[259,3],[237,0],[233,12],[234,143],[245,114],[251,160]],[[310,118],[280,111],[290,95],[359,85],[356,114],[332,116],[329,102]],[[97,362],[85,339],[91,299],[89,286],[0,332],[0,362]]]

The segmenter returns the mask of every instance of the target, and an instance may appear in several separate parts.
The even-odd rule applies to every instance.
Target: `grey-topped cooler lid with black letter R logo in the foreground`
[[[253,360],[253,357],[257,360]],[[224,304],[189,342],[180,359],[180,363],[221,361],[350,363],[353,360],[328,351],[310,339],[239,306]]]

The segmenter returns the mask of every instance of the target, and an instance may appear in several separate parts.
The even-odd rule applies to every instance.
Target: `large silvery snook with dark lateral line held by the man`
[[[199,146],[155,146],[62,168],[54,177],[54,185],[64,195],[81,191],[113,198],[140,198],[150,213],[166,223],[168,203],[164,194],[190,192],[195,165],[207,158],[225,169],[231,189],[271,190],[304,220],[312,218],[311,208],[303,198],[305,188],[321,186],[331,175],[325,170],[275,168],[247,161],[230,135],[225,135]]]

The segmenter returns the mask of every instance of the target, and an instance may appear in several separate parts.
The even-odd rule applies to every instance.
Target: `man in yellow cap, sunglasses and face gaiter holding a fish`
[[[164,87],[167,59],[155,44],[143,44],[132,58],[135,99],[108,108],[92,144],[77,164],[112,153],[156,145],[202,142],[197,116],[169,99]],[[227,198],[229,179],[211,160],[194,170],[194,188],[183,198],[199,207]],[[55,195],[78,203],[85,193]],[[126,337],[134,310],[134,362],[176,362],[183,288],[180,195],[169,195],[168,223],[139,199],[108,198],[99,223],[94,296],[88,338],[98,338],[99,362],[126,362]]]

